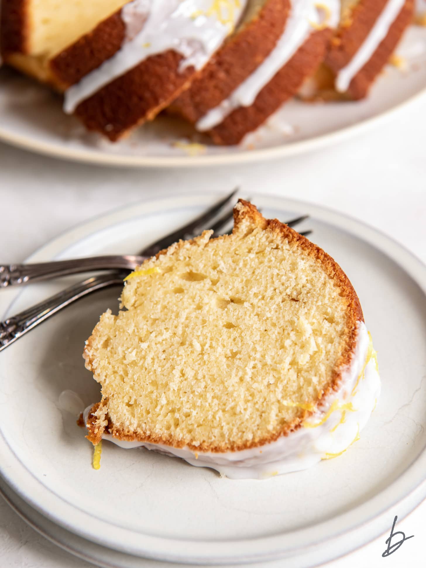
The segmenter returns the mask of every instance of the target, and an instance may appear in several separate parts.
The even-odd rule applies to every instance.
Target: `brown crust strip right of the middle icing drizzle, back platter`
[[[306,77],[315,72],[324,59],[332,30],[316,31],[308,37],[295,55],[257,95],[253,105],[236,108],[222,123],[209,132],[216,144],[239,144],[256,130],[281,105],[293,97]]]

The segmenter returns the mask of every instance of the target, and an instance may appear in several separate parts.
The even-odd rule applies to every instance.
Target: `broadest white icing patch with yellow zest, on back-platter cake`
[[[233,30],[245,3],[246,0],[229,0],[228,9],[221,3],[219,12],[212,8],[212,0],[133,0],[128,3],[122,9],[122,19],[127,26],[122,47],[66,91],[65,112],[73,112],[82,101],[141,61],[169,49],[183,56],[180,70],[190,65],[201,69]]]

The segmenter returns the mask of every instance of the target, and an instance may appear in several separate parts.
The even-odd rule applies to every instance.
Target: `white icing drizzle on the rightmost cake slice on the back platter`
[[[387,2],[365,41],[361,44],[361,47],[349,61],[348,65],[340,69],[339,73],[337,73],[335,82],[336,91],[345,93],[349,89],[352,79],[360,72],[367,61],[371,59],[373,53],[387,36],[389,28],[398,17],[404,3],[405,0],[389,0],[389,2]]]

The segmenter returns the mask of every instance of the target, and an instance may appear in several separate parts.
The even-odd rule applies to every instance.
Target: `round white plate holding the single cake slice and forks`
[[[147,200],[65,233],[31,260],[136,251],[216,198]],[[136,557],[206,564],[286,558],[287,567],[302,568],[365,544],[389,528],[391,506],[399,503],[402,518],[426,496],[426,267],[343,215],[277,197],[253,202],[282,220],[309,213],[304,228],[314,229],[312,240],[339,262],[360,296],[383,381],[361,440],[336,460],[264,481],[221,479],[107,442],[101,469],[93,470],[91,445],[58,399],[65,389],[85,404],[99,399],[81,353],[99,314],[118,308],[119,290],[104,291],[0,355],[0,475],[61,528]],[[11,292],[2,291],[0,314],[63,286],[28,286],[9,307]]]

